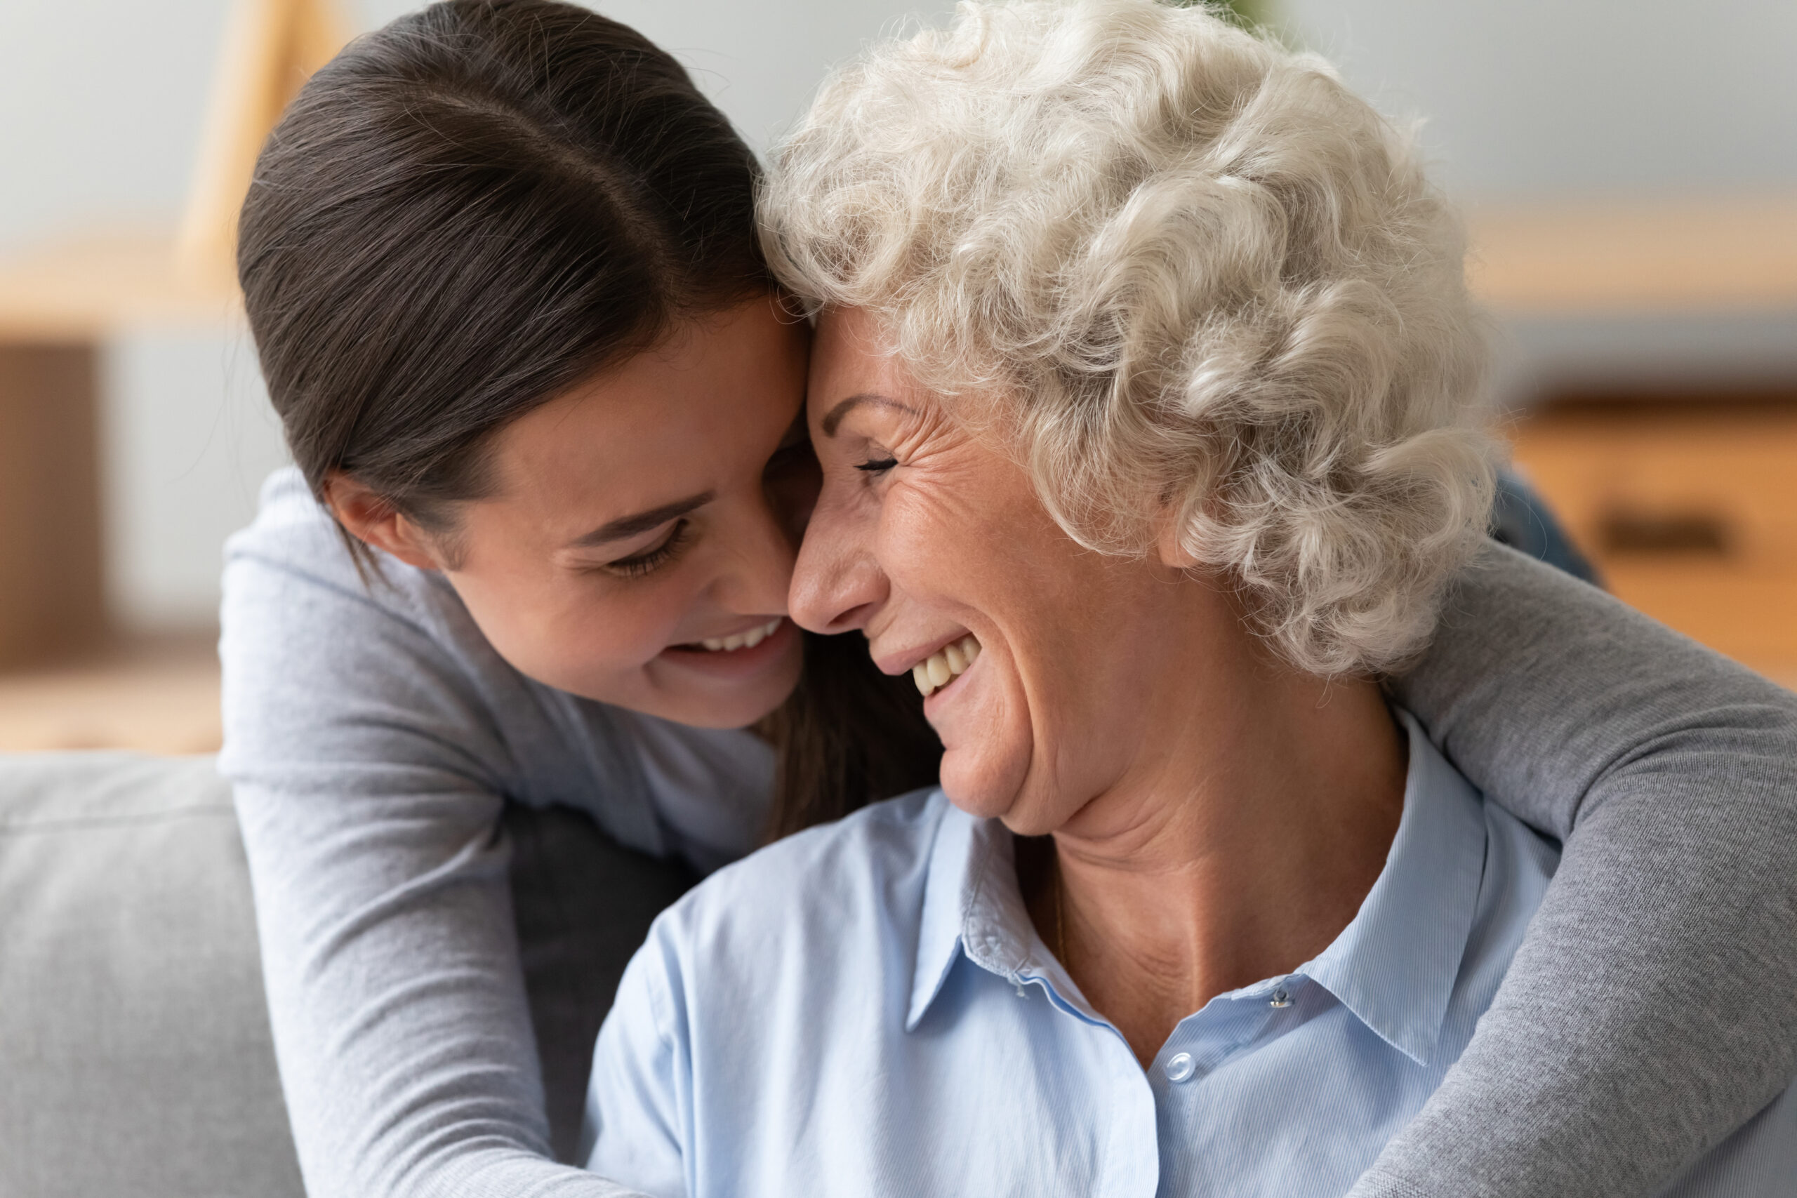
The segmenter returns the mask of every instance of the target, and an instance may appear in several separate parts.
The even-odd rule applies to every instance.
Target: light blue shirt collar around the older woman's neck
[[[1385,868],[1341,936],[1296,973],[1326,988],[1394,1049],[1427,1063],[1472,934],[1486,832],[1479,794],[1407,711],[1398,717],[1411,762]],[[1012,981],[1030,966],[1060,973],[1017,893],[1010,832],[996,819],[961,812],[940,790],[933,801],[945,810],[924,884],[906,1031],[929,1011],[961,952]]]

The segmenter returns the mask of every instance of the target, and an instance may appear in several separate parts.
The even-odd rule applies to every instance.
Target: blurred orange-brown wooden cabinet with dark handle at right
[[[1797,683],[1797,392],[1547,402],[1515,462],[1619,598]]]

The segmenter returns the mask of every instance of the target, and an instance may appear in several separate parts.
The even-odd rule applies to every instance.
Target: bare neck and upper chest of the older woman
[[[1138,767],[1053,833],[1030,896],[1145,1065],[1215,995],[1326,948],[1403,812],[1405,742],[1377,684],[1209,665],[1200,695],[1157,706]]]

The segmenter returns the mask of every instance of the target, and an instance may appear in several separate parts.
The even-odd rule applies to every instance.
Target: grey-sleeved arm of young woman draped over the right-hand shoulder
[[[1797,695],[1499,546],[1391,690],[1565,855],[1351,1198],[1653,1193],[1797,1074]]]

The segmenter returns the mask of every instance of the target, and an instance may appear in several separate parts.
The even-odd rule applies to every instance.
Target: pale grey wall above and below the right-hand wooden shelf
[[[1470,203],[1797,190],[1793,0],[1278,0]],[[1511,322],[1500,397],[1797,379],[1797,311]]]

